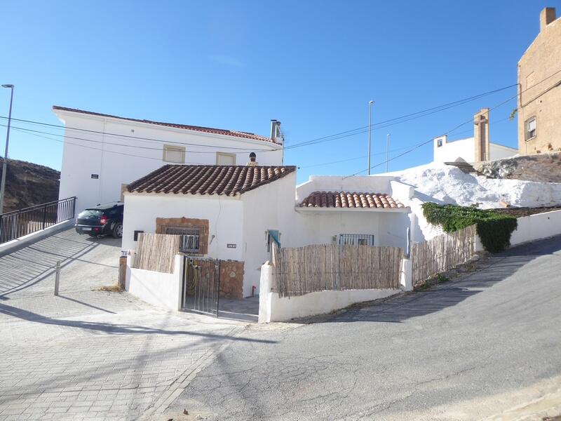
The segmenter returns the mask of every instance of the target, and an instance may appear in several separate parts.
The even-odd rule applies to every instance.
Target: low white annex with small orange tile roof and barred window
[[[296,190],[283,246],[366,244],[406,247],[410,187],[390,176],[312,176]],[[287,239],[288,241],[285,241]]]

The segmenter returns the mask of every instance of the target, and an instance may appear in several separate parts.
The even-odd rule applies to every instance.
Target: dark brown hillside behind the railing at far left
[[[3,164],[0,157],[0,180]],[[53,168],[9,159],[4,212],[57,200],[59,178],[60,172]]]

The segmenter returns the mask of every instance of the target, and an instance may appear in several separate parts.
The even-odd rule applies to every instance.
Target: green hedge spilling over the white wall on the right
[[[485,250],[499,253],[511,245],[511,234],[518,221],[510,215],[482,210],[469,206],[423,204],[423,215],[433,225],[440,225],[445,232],[477,225],[477,232]]]

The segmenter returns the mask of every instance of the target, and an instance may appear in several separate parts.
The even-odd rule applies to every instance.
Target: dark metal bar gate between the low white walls
[[[184,256],[182,309],[218,316],[220,261]]]

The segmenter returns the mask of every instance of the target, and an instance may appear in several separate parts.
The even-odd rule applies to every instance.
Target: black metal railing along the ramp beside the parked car
[[[76,197],[13,210],[0,215],[0,244],[74,218]]]

